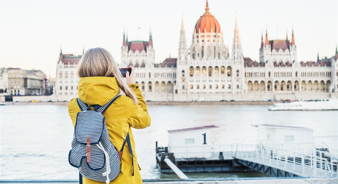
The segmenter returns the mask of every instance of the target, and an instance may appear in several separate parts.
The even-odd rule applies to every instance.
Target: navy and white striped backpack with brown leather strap
[[[69,151],[68,161],[71,166],[78,168],[80,184],[82,176],[107,184],[114,180],[121,171],[120,161],[126,142],[133,158],[129,133],[121,150],[117,151],[109,139],[104,123],[105,118],[102,115],[119,96],[116,95],[103,106],[88,106],[77,98],[81,112],[76,116],[72,149]],[[91,107],[94,107],[94,110],[91,110]],[[132,159],[132,170],[132,176],[134,176],[134,159]]]

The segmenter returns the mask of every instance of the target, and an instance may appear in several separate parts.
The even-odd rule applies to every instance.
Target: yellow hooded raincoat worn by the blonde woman
[[[110,184],[138,184],[142,183],[140,170],[138,166],[135,151],[135,141],[131,128],[142,129],[150,126],[150,116],[141,90],[137,84],[129,84],[139,101],[135,105],[131,98],[121,95],[113,104],[103,113],[105,124],[108,129],[110,140],[117,151],[122,148],[123,141],[129,132],[131,150],[134,156],[134,176],[132,176],[132,160],[128,148],[125,144],[121,161],[121,173],[110,182]],[[88,105],[104,105],[119,93],[119,87],[115,77],[84,77],[81,78],[78,85],[79,98]],[[69,115],[75,126],[76,115],[80,112],[76,98],[73,98],[68,104]],[[83,177],[84,184],[104,184],[104,182],[94,181]]]

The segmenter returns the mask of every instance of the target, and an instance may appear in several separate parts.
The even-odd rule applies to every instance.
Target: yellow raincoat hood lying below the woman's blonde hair
[[[115,77],[83,77],[78,84],[79,98],[89,105],[104,105],[119,93]]]

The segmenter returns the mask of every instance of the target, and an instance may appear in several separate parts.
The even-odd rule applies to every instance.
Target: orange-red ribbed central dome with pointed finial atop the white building
[[[206,29],[204,31],[204,28]],[[202,32],[213,32],[218,33],[221,32],[221,26],[219,25],[218,21],[215,19],[214,16],[212,16],[209,12],[209,7],[208,7],[208,0],[207,0],[207,5],[206,5],[206,12],[198,19],[196,25],[195,25],[195,31],[198,33],[198,30],[201,30]]]

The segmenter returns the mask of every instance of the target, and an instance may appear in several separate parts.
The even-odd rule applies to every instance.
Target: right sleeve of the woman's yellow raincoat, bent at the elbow
[[[134,102],[130,99],[127,104],[127,116],[130,127],[136,129],[142,129],[150,126],[150,116],[148,113],[147,105],[142,96],[142,92],[137,84],[129,84],[131,90],[134,91],[137,100],[139,101],[138,105],[135,105]]]

